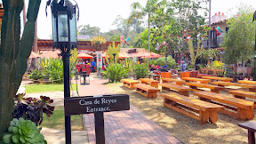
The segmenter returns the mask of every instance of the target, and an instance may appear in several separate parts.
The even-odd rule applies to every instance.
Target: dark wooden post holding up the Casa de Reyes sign
[[[94,113],[96,144],[105,144],[104,115],[103,112]]]

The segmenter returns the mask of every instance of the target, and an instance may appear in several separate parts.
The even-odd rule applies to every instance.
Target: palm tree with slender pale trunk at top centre
[[[132,20],[136,18],[137,20],[143,18],[144,16],[148,16],[148,52],[150,52],[150,17],[156,12],[157,8],[160,5],[166,4],[165,0],[159,2],[159,0],[148,0],[145,7],[139,2],[135,2],[132,4],[133,11],[128,19],[128,23],[132,23]]]

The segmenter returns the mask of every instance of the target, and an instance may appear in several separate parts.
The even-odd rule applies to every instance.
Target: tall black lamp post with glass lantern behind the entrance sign
[[[52,9],[52,45],[53,48],[60,49],[63,60],[64,76],[64,107],[65,99],[70,97],[69,85],[69,57],[70,50],[77,47],[76,38],[76,7],[68,0],[49,0],[47,6]],[[78,7],[77,7],[78,8]],[[78,12],[79,13],[79,12]],[[46,12],[47,15],[47,12]],[[79,16],[78,16],[79,17]],[[66,144],[71,144],[70,116],[65,116]]]

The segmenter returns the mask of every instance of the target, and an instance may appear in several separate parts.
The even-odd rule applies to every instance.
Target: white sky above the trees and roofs
[[[28,0],[26,0],[28,2]],[[70,0],[72,1],[72,0]],[[45,4],[47,0],[42,0],[37,18],[37,37],[49,39],[52,34],[51,8],[48,7],[48,16],[45,14]],[[77,27],[90,24],[91,27],[99,27],[100,32],[107,32],[114,29],[112,23],[117,15],[127,19],[132,12],[131,4],[140,2],[145,5],[147,0],[76,0],[80,9],[80,18]],[[252,5],[256,11],[256,0],[212,0],[212,15],[215,12],[224,12],[228,17],[237,12],[237,6],[241,3]],[[28,6],[27,6],[28,8]],[[233,9],[232,13],[229,12]]]

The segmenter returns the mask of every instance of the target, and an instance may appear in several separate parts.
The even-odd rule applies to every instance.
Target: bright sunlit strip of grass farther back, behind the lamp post
[[[25,88],[27,93],[64,91],[63,84],[28,84]],[[76,91],[76,84],[72,84],[70,91]]]

